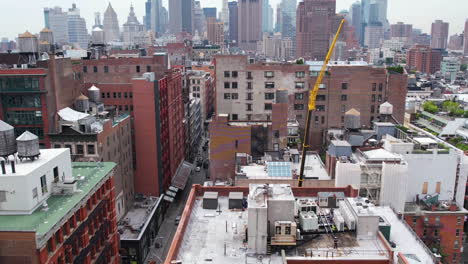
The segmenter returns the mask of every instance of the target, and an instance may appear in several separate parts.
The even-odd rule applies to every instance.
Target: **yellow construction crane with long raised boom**
[[[327,57],[325,58],[325,61],[323,62],[322,69],[320,70],[320,74],[317,77],[317,81],[315,82],[314,88],[309,95],[307,121],[306,121],[306,128],[305,128],[305,133],[304,133],[305,135],[304,135],[304,140],[303,140],[303,145],[302,145],[302,160],[301,160],[301,170],[299,173],[299,187],[302,187],[302,183],[304,182],[304,166],[305,166],[305,160],[306,160],[306,155],[307,155],[307,149],[309,148],[308,144],[309,144],[310,119],[312,118],[312,112],[315,110],[315,107],[316,107],[315,103],[317,100],[317,94],[320,88],[320,84],[322,83],[323,76],[325,75],[328,62],[330,61],[333,51],[335,50],[336,41],[338,40],[338,37],[340,36],[341,30],[345,22],[346,22],[345,19],[341,20],[340,26],[338,27],[338,31],[336,32],[335,37],[333,38],[333,42],[330,46],[330,49],[328,50]]]

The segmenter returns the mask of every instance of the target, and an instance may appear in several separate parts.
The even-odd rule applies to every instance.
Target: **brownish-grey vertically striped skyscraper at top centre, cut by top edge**
[[[239,47],[255,51],[257,41],[262,39],[263,1],[240,1],[239,5]]]

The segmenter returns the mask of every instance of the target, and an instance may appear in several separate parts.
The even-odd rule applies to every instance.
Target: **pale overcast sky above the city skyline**
[[[167,6],[170,0],[163,1]],[[276,10],[276,5],[280,1],[270,0],[270,4]],[[120,24],[127,20],[130,3],[135,6],[136,15],[142,22],[146,0],[0,0],[0,37],[13,39],[18,33],[26,30],[37,33],[44,27],[44,7],[61,6],[63,9],[68,9],[73,2],[77,3],[90,29],[94,22],[94,12],[103,13],[108,2],[111,2],[116,10]],[[338,12],[348,9],[355,0],[336,0],[336,2]],[[467,0],[388,0],[388,2],[390,23],[403,21],[427,33],[430,33],[431,23],[435,19],[450,23],[450,35],[461,33],[468,18]],[[216,6],[220,9],[221,3],[221,0],[201,0],[203,7]]]

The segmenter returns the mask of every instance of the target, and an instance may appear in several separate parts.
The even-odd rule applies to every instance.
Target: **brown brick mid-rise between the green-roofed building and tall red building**
[[[68,122],[61,120],[59,123]],[[53,148],[69,148],[75,162],[117,164],[114,168],[115,207],[117,219],[120,219],[130,209],[135,196],[130,116],[114,113],[97,118],[90,125],[80,127],[78,123],[80,120],[73,121],[70,125],[61,126],[57,133],[50,134],[51,145]],[[93,131],[94,126],[102,129]]]

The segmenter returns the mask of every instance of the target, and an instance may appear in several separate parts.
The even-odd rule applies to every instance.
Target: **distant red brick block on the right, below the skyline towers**
[[[440,71],[442,51],[429,46],[416,45],[408,50],[406,64],[410,70],[433,74]]]

